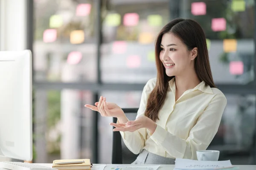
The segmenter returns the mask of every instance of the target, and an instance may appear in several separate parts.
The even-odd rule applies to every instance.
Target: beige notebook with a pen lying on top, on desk
[[[78,162],[78,161],[84,161],[84,163],[72,163],[72,162]],[[58,164],[58,163],[63,163],[63,164]],[[90,170],[91,163],[90,163],[90,159],[61,159],[61,160],[54,160],[52,162],[52,167],[58,170]]]

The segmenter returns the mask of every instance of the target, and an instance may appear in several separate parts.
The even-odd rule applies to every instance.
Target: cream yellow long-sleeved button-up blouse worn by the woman
[[[146,83],[137,116],[144,114],[148,95],[155,85],[156,78]],[[197,159],[196,151],[207,149],[217,133],[226,105],[224,94],[204,81],[185,91],[175,102],[175,79],[172,79],[155,132],[150,135],[146,128],[141,128],[120,133],[135,154],[145,149],[168,158]]]

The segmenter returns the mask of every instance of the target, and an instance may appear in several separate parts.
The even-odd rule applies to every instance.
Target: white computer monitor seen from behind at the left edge
[[[32,160],[32,53],[0,51],[0,156]]]

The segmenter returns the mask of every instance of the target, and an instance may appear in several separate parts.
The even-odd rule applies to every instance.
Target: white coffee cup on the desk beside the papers
[[[218,161],[220,151],[218,150],[198,150],[196,151],[198,161]]]

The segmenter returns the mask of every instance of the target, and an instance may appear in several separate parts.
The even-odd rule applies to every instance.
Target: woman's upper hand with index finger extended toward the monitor
[[[90,108],[93,111],[97,111],[101,116],[110,116],[116,118],[126,117],[124,111],[115,103],[106,102],[106,98],[100,96],[99,102],[93,105],[84,105],[87,108]]]

